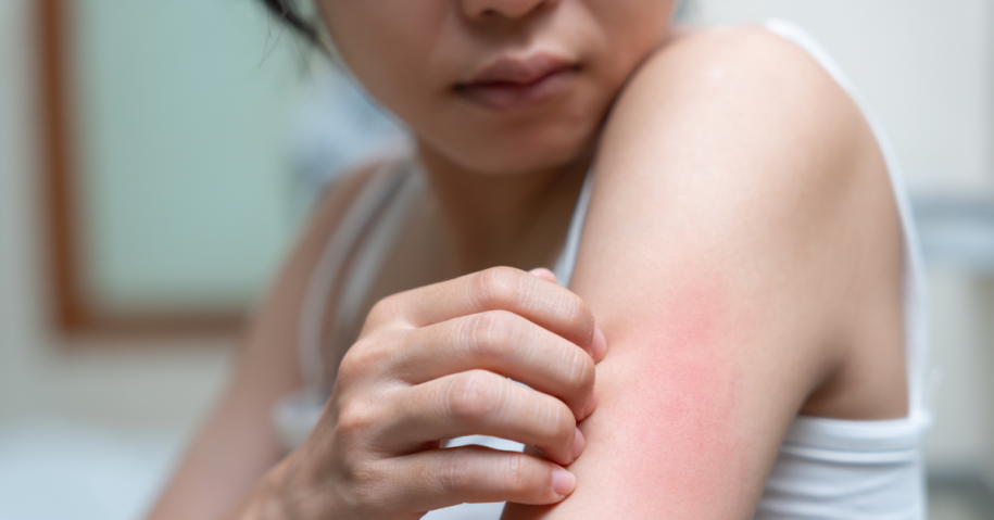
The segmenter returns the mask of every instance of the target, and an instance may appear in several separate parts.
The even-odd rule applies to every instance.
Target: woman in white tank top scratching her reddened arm
[[[327,195],[153,519],[923,517],[906,203],[803,33],[679,33],[671,0],[266,3],[416,153]],[[270,410],[320,384],[287,455]],[[471,434],[529,447],[445,441]]]

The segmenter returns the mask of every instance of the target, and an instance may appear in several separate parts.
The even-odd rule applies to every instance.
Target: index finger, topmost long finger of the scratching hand
[[[403,319],[427,327],[487,310],[507,310],[603,357],[606,342],[595,332],[593,314],[583,301],[539,276],[494,267],[454,280],[395,294],[380,301],[367,327]]]

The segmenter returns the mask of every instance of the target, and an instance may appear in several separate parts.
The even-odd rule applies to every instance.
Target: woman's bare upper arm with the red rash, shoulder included
[[[848,252],[876,254],[854,215],[889,190],[875,141],[816,63],[755,28],[660,51],[603,139],[573,281],[609,344],[599,407],[574,495],[505,518],[752,518],[842,363]]]

